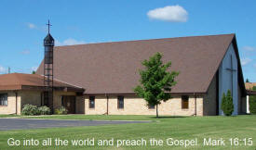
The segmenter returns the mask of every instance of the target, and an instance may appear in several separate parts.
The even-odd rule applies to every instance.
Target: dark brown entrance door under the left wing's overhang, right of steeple
[[[68,114],[75,114],[75,96],[74,95],[63,95],[61,104],[67,109]]]

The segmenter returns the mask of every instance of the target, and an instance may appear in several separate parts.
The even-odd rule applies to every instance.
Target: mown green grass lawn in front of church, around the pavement
[[[66,139],[71,144],[73,139],[95,138],[95,144],[98,140],[115,140],[114,146],[58,146],[58,149],[256,149],[256,116],[237,116],[237,117],[162,117],[155,119],[155,116],[45,116],[40,118],[47,119],[111,119],[111,120],[159,120],[151,123],[122,124],[122,125],[104,125],[92,127],[74,127],[74,128],[52,128],[38,130],[18,130],[18,131],[0,131],[0,149],[54,149],[52,146],[8,146],[7,139],[14,138],[22,142],[23,139],[38,139],[40,142],[47,138]],[[146,146],[121,146],[116,147],[116,140],[147,140]],[[149,139],[162,139],[164,145],[151,146]],[[195,146],[170,146],[166,144],[166,139],[173,138],[178,140],[198,139]],[[203,138],[225,140],[225,146],[203,146]],[[242,145],[240,141],[237,146],[231,146],[229,138],[252,138],[253,145]],[[54,143],[52,143],[54,144]]]

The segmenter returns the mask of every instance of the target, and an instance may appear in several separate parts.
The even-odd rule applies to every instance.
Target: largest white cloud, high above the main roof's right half
[[[187,11],[179,5],[158,7],[148,11],[149,19],[159,19],[169,22],[186,22],[188,19]]]

